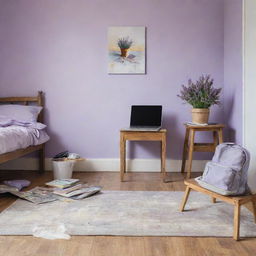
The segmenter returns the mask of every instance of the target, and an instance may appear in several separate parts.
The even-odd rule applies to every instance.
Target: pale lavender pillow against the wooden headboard
[[[0,115],[22,122],[37,122],[37,117],[43,107],[23,105],[0,105]]]

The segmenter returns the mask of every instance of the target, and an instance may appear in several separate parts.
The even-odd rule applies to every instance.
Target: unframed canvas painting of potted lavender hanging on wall
[[[145,74],[145,27],[109,27],[108,73]]]

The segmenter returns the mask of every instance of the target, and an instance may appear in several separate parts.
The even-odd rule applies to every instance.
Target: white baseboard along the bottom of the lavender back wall
[[[208,160],[193,160],[192,171],[203,171]],[[98,172],[119,171],[118,158],[86,159],[75,164],[74,171]],[[167,172],[180,172],[181,160],[167,159]],[[19,158],[0,165],[1,170],[38,170],[37,158]],[[160,171],[159,159],[127,159],[127,169],[132,172],[157,172]],[[51,158],[46,158],[46,170],[52,170]]]

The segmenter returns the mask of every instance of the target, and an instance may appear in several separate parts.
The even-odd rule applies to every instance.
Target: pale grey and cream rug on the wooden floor
[[[35,205],[17,200],[0,214],[0,235],[32,235],[60,230],[70,235],[216,236],[233,234],[233,207],[191,192],[179,212],[183,192],[103,191],[73,202]],[[39,234],[40,236],[40,234]],[[241,236],[256,237],[250,211],[241,209]]]

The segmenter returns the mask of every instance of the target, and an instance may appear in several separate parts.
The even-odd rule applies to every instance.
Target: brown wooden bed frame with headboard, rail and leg
[[[37,106],[44,107],[43,92],[39,91],[36,97],[6,97],[0,98],[0,104],[2,103],[23,103],[24,105],[29,105],[30,103],[35,103]],[[43,123],[43,111],[38,116],[38,122]],[[18,149],[13,152],[8,152],[0,154],[0,164],[14,160],[21,156],[27,155],[29,153],[39,151],[39,172],[45,171],[45,143],[37,146],[29,146],[24,149]]]

